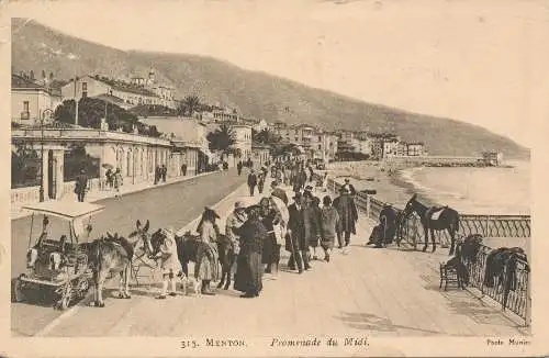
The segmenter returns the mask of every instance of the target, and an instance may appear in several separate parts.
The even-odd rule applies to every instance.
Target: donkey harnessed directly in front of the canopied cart
[[[94,306],[104,307],[103,284],[110,273],[120,275],[119,299],[131,299],[130,278],[134,245],[119,234],[107,233],[107,236],[91,243],[80,244],[80,249],[88,254],[88,265],[93,272],[92,282],[96,289]]]

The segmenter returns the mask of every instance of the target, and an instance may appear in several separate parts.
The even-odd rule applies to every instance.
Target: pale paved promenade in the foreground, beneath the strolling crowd
[[[321,197],[323,193],[321,193]],[[226,216],[236,200],[255,203],[246,186],[222,200]],[[224,217],[220,223],[224,223]],[[191,222],[181,231],[194,231]],[[224,225],[221,225],[224,226]],[[78,306],[42,329],[41,336],[303,337],[343,336],[517,336],[522,328],[467,291],[439,291],[436,254],[365,247],[372,223],[361,216],[358,235],[330,262],[313,261],[303,275],[284,268],[278,280],[264,277],[257,299],[232,289],[215,297],[155,300],[159,284],[134,287],[132,300],[105,292],[104,309]],[[155,228],[155,227],[153,227]],[[322,255],[321,255],[322,256]],[[283,251],[282,262],[288,260]],[[190,268],[192,270],[192,267]]]

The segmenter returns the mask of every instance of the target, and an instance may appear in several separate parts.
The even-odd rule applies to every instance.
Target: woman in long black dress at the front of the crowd
[[[234,288],[244,292],[242,298],[255,298],[262,290],[261,251],[267,231],[259,221],[260,208],[254,205],[247,209],[248,220],[238,228],[233,228],[240,237]]]

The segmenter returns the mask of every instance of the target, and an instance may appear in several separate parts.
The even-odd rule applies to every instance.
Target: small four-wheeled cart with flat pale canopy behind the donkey
[[[15,301],[27,299],[31,293],[55,300],[55,307],[65,310],[75,301],[81,300],[90,287],[91,273],[87,244],[80,243],[83,235],[91,232],[91,216],[101,212],[103,206],[87,202],[42,202],[23,206],[32,212],[26,254],[27,272],[22,273],[14,288]],[[43,216],[40,237],[32,245],[33,224],[36,215]],[[67,223],[68,232],[58,238],[48,233],[48,216]],[[83,221],[88,219],[86,227]]]

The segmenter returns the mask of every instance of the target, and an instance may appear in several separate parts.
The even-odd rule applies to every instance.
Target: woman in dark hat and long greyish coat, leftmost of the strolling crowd
[[[202,294],[214,295],[215,293],[210,288],[210,282],[217,280],[217,234],[219,227],[215,221],[220,216],[212,209],[206,208],[202,214],[197,232],[200,234],[202,245],[197,249],[197,267],[194,268],[194,277],[202,280]]]

